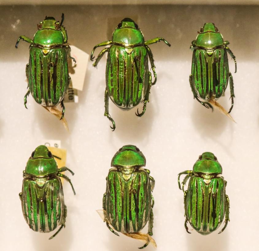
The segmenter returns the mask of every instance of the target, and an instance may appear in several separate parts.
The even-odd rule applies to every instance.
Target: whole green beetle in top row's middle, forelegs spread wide
[[[93,66],[97,67],[104,53],[108,52],[104,116],[112,122],[113,130],[115,123],[109,114],[109,97],[116,106],[123,110],[130,110],[143,102],[143,111],[139,113],[137,110],[136,115],[141,117],[145,113],[151,85],[157,81],[153,54],[148,45],[160,40],[171,46],[161,37],[145,41],[137,24],[130,18],[124,18],[114,30],[112,40],[97,44],[93,48],[90,58],[92,61],[97,47],[110,45],[99,53]],[[149,72],[148,57],[155,78],[153,83]]]

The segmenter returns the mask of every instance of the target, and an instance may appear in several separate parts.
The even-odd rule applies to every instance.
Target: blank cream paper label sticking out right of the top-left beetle
[[[68,72],[72,80],[73,88],[79,91],[83,91],[89,55],[74,45],[70,45],[70,48],[71,56],[75,58],[76,63],[74,63],[74,61],[69,58]]]

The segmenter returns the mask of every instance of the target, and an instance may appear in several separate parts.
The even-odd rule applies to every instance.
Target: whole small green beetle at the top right
[[[198,32],[196,40],[191,42],[192,64],[189,77],[191,91],[203,106],[211,107],[203,100],[215,100],[225,92],[228,80],[230,82],[231,112],[234,105],[234,83],[229,71],[227,52],[234,59],[235,72],[237,71],[236,57],[228,48],[229,42],[223,41],[221,33],[213,23],[206,23]]]

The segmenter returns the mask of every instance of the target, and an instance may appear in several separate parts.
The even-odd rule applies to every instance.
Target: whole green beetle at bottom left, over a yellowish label
[[[19,193],[23,216],[32,230],[48,233],[61,225],[49,239],[65,227],[67,217],[60,177],[70,183],[75,194],[71,180],[61,172],[74,173],[67,167],[58,169],[54,157],[44,145],[32,152],[23,171],[22,192]]]

